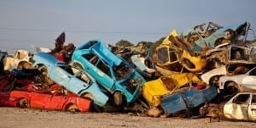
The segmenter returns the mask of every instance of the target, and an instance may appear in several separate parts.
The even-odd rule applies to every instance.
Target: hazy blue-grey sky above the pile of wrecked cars
[[[256,31],[255,6],[255,0],[0,0],[0,50],[54,48],[62,31],[65,44],[76,46],[93,39],[155,42],[172,29],[209,21],[248,21]]]

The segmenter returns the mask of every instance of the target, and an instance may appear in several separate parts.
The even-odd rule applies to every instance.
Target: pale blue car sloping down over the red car
[[[98,106],[102,107],[108,102],[108,96],[102,92],[96,81],[78,67],[68,65],[49,53],[36,53],[33,65],[46,70],[48,77],[58,85],[80,97],[92,99]]]

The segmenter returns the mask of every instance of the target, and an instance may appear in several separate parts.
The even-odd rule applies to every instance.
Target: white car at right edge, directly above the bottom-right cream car
[[[236,87],[239,92],[256,92],[256,67],[244,75],[225,75],[219,77],[219,89]]]

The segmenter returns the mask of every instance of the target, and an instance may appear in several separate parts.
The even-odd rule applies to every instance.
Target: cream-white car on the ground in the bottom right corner
[[[224,116],[230,120],[256,121],[256,93],[237,93],[224,104]]]

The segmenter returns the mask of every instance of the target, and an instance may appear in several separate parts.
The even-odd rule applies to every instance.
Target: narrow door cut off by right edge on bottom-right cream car
[[[256,120],[256,94],[252,95],[252,100],[248,107],[248,120]]]

